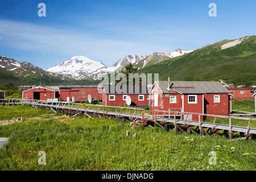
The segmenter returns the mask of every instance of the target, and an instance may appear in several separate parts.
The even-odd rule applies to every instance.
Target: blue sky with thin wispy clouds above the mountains
[[[38,16],[41,2],[46,17]],[[212,2],[216,17],[208,15]],[[43,69],[80,55],[111,66],[125,55],[255,35],[255,7],[255,0],[0,0],[0,56]]]

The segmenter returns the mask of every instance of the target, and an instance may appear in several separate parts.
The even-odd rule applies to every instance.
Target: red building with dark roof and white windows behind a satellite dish
[[[131,106],[148,106],[149,93],[147,85],[104,85],[102,104],[105,106],[125,106],[126,97],[130,96]]]

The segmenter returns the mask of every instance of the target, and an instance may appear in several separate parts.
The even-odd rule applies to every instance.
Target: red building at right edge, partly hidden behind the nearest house
[[[227,88],[229,93],[232,94],[232,98],[237,99],[254,99],[253,94],[256,92],[255,87],[236,87]]]

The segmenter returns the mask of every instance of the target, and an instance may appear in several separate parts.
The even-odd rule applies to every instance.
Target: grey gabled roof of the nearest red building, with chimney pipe
[[[168,81],[156,82],[163,93],[204,94],[229,93],[229,90],[218,81],[170,81],[171,90],[167,90]]]

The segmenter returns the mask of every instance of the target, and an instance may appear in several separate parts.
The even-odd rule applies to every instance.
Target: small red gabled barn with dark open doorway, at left
[[[42,101],[47,101],[48,98],[59,98],[59,86],[36,86],[35,88],[24,90],[22,98]]]

